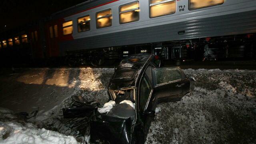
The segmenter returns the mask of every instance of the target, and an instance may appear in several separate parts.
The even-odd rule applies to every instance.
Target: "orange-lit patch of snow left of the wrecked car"
[[[83,85],[90,85],[89,89],[93,89],[101,83],[95,80],[92,68],[62,68],[62,69],[39,69],[36,75],[24,75],[17,78],[18,82],[24,84],[40,84],[58,87],[77,88]],[[82,78],[82,71],[86,71],[88,77]],[[75,75],[75,76],[74,76]],[[81,79],[82,78],[82,79]]]

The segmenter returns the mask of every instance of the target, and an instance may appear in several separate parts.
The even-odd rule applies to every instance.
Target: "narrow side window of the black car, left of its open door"
[[[144,76],[140,85],[140,112],[144,112],[150,92],[150,84],[146,76]]]

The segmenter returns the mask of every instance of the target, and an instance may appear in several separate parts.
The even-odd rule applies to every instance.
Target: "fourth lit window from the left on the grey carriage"
[[[119,7],[120,24],[138,21],[139,12],[140,12],[140,6],[138,1],[120,6]]]

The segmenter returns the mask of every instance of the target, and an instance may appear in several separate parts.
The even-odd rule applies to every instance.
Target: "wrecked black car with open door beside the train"
[[[143,144],[155,109],[160,102],[181,100],[189,92],[190,80],[180,67],[160,67],[152,54],[137,54],[122,60],[108,85],[110,112],[90,117],[90,142]],[[126,103],[134,103],[135,107]]]

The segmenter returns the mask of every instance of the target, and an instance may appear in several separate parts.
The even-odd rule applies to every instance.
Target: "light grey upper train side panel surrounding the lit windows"
[[[222,16],[234,13],[242,13],[246,11],[256,10],[256,0],[225,0],[224,4],[217,6],[210,6],[206,8],[200,8],[196,10],[188,10],[188,0],[176,0],[174,14],[166,16],[159,16],[155,18],[149,18],[149,0],[138,0],[140,4],[140,19],[136,22],[130,22],[126,24],[119,24],[119,6],[134,2],[136,0],[118,0],[104,6],[93,8],[91,10],[81,12],[72,16],[64,18],[66,21],[73,21],[73,38],[85,38],[98,36],[102,34],[110,34],[115,32],[129,31],[140,28],[147,28],[152,26],[161,26],[166,24],[172,24],[177,22],[186,22],[190,20],[198,20],[203,18]],[[179,6],[185,6],[184,11],[180,11]],[[112,26],[106,28],[96,28],[96,12],[102,10],[112,10]],[[77,30],[77,18],[90,15],[90,30],[86,32],[78,32]]]

